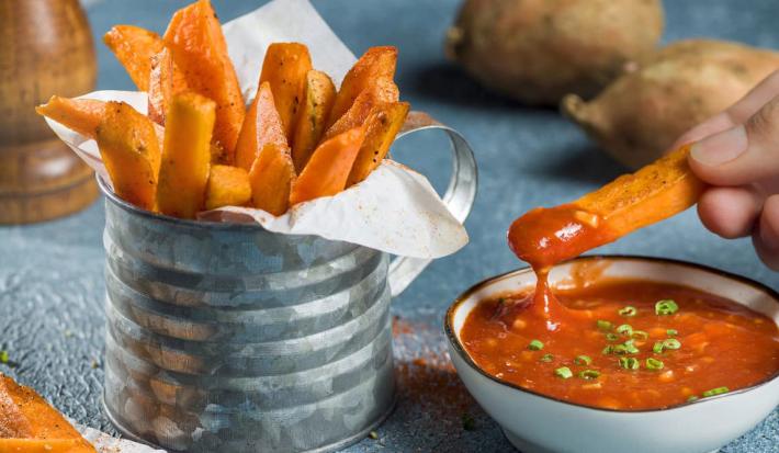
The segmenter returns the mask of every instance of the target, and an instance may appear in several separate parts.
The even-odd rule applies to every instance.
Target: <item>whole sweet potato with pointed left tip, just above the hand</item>
[[[663,155],[687,129],[741,99],[779,69],[779,54],[735,43],[680,41],[657,52],[587,103],[572,94],[565,114],[631,168]]]

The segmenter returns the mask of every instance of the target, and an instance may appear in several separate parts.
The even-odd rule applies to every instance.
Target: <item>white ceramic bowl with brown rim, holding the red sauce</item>
[[[550,283],[572,263],[602,260],[603,276],[682,284],[738,302],[779,325],[779,293],[747,279],[680,261],[639,257],[584,257],[552,270]],[[779,373],[749,388],[667,409],[619,411],[562,401],[498,381],[465,352],[460,332],[476,304],[497,293],[535,284],[530,269],[486,280],[449,308],[444,329],[452,362],[468,392],[523,453],[696,453],[715,451],[754,428],[779,405]]]

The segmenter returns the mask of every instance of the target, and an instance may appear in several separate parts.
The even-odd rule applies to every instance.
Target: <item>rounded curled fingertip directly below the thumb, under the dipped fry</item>
[[[703,226],[725,238],[748,236],[759,214],[759,197],[746,188],[711,188],[698,201]]]

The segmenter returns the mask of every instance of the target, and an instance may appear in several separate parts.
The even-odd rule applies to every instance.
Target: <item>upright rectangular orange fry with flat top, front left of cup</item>
[[[181,218],[203,208],[216,104],[200,94],[174,94],[168,107],[157,207]]]

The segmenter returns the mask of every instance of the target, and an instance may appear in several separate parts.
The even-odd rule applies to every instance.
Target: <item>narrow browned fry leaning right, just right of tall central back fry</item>
[[[325,122],[336,100],[336,86],[325,72],[312,69],[306,75],[301,106],[292,136],[292,161],[300,173],[325,133]]]

